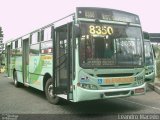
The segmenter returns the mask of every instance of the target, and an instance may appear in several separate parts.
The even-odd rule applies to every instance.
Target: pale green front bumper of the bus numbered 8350
[[[86,100],[98,100],[107,98],[127,97],[132,95],[142,95],[146,92],[146,83],[141,86],[131,88],[114,88],[106,90],[88,90],[81,87],[77,87],[77,99],[78,101]]]

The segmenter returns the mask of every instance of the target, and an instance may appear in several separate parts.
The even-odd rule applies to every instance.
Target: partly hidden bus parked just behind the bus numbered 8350
[[[153,46],[150,42],[148,32],[143,32],[144,36],[144,50],[145,50],[145,81],[153,82],[155,79],[155,62]]]

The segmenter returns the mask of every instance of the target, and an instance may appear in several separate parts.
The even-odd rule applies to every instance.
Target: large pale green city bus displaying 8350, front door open
[[[99,100],[146,92],[139,17],[77,7],[75,12],[6,43],[14,84],[45,92],[50,103]]]

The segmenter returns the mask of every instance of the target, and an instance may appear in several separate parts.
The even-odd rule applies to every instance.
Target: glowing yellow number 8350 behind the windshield
[[[112,35],[113,28],[111,26],[89,25],[89,33],[93,35]]]

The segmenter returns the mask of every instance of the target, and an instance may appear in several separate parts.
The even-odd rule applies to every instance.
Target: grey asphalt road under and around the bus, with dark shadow
[[[23,114],[23,117],[32,116],[39,120],[42,115],[65,119],[70,119],[72,115],[75,118],[85,116],[86,119],[105,118],[107,115],[112,119],[113,116],[122,119],[128,114],[156,114],[160,119],[160,95],[149,89],[141,96],[79,103],[63,101],[62,105],[52,105],[46,100],[44,92],[26,87],[15,88],[12,79],[0,74],[0,114],[2,120],[6,120],[6,115],[15,118],[12,115],[17,114],[19,118]]]

